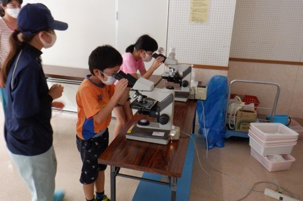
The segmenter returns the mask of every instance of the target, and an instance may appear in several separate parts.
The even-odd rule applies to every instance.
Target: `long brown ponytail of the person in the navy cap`
[[[15,31],[12,33],[12,35],[9,37],[9,44],[10,44],[10,51],[8,53],[8,56],[6,57],[3,66],[1,68],[2,71],[2,79],[6,82],[8,73],[12,67],[13,62],[15,61],[15,57],[18,52],[21,51],[21,49],[24,46],[24,43],[29,43],[32,41],[34,36],[38,33],[35,34],[29,34],[29,35],[24,35],[22,34],[21,38],[22,40],[19,39],[19,34],[21,33],[20,28],[18,27],[15,29]]]

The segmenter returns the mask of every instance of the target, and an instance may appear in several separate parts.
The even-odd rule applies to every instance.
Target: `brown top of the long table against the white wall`
[[[80,69],[73,67],[64,67],[64,66],[56,66],[56,65],[43,65],[43,71],[45,77],[47,78],[60,78],[60,79],[69,79],[69,80],[77,80],[82,81],[86,75],[90,75],[90,71],[88,69]],[[140,77],[141,75],[138,74]],[[151,75],[149,78],[150,81],[153,81],[155,85],[161,81],[161,75]]]

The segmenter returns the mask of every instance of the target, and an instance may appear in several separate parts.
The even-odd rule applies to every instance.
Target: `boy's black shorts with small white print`
[[[98,164],[99,156],[108,147],[108,129],[102,136],[83,140],[76,136],[77,148],[83,162],[80,183],[90,184],[97,180],[99,171],[104,171],[107,165]]]

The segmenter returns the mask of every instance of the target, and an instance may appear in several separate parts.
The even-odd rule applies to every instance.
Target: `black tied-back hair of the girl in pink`
[[[158,43],[152,37],[143,35],[138,38],[135,44],[128,46],[125,49],[125,52],[133,53],[135,49],[143,49],[145,51],[155,52],[158,49]]]

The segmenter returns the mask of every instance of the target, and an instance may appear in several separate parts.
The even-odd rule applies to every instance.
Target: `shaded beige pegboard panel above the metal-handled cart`
[[[302,0],[238,0],[230,57],[302,62]]]

